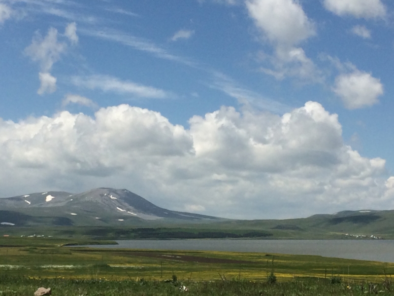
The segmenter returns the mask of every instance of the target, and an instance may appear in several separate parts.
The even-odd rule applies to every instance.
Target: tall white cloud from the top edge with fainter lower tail
[[[268,57],[272,68],[261,68],[265,74],[277,79],[291,76],[304,81],[321,80],[313,61],[296,46],[316,35],[314,23],[298,1],[247,0],[246,7],[263,38],[274,46],[274,54]]]

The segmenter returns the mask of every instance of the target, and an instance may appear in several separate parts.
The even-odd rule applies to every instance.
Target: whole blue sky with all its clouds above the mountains
[[[394,209],[389,0],[0,0],[0,197]]]

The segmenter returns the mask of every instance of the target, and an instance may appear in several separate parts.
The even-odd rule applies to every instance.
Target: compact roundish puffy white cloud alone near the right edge
[[[355,70],[352,73],[340,74],[335,78],[333,91],[348,109],[359,109],[379,102],[384,88],[380,79],[370,73]]]

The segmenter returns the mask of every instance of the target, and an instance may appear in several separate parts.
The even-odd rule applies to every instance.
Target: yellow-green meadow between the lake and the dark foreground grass
[[[0,238],[0,245],[5,240]],[[263,281],[274,271],[279,282],[332,276],[345,282],[381,281],[385,273],[394,274],[394,263],[321,256],[71,248],[60,247],[66,240],[20,238],[13,243],[16,241],[19,245],[0,248],[1,274],[90,280],[162,280],[176,274],[183,280],[220,280],[224,276]]]

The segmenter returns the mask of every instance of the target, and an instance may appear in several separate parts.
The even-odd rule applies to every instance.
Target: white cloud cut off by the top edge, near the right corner
[[[324,6],[336,15],[356,18],[384,18],[387,13],[381,0],[324,0]]]

